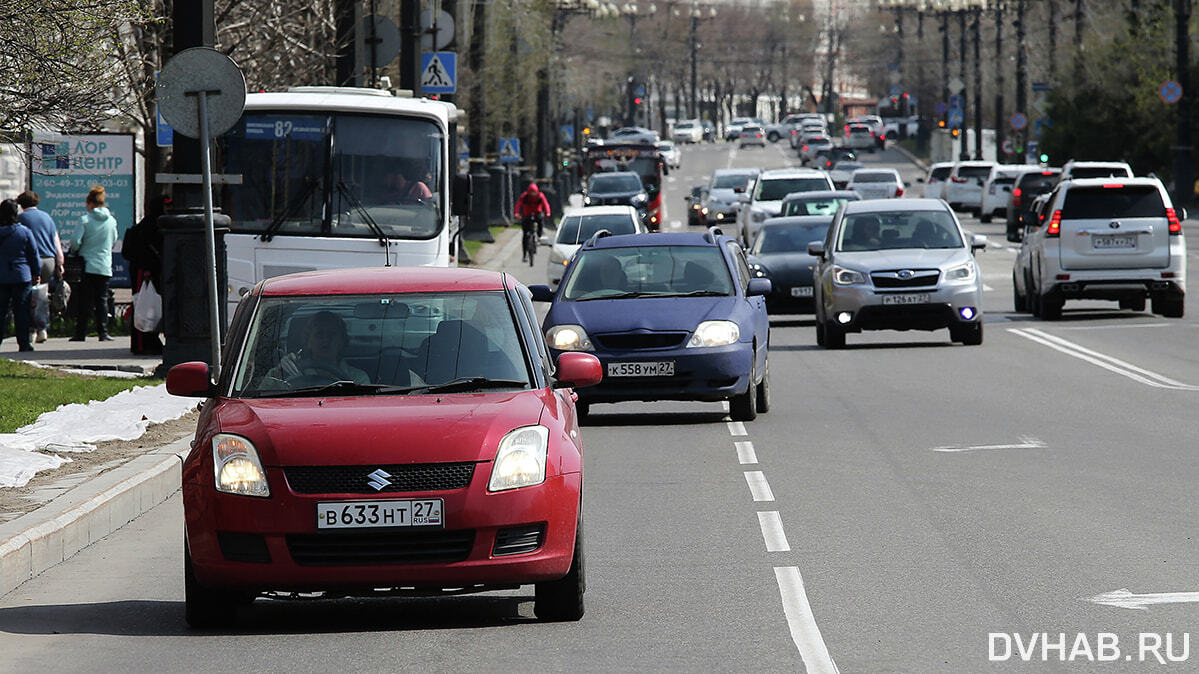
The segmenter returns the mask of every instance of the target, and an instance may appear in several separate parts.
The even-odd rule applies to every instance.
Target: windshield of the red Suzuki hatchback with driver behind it
[[[357,387],[336,395],[464,378],[517,389],[530,381],[502,291],[263,297],[235,368],[234,397],[287,397],[342,381]]]

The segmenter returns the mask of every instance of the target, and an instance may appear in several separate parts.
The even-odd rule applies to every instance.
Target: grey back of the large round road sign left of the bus
[[[246,76],[233,59],[210,47],[183,49],[167,61],[155,85],[158,112],[179,133],[199,138],[200,91],[206,94],[209,134],[233,128],[246,108]]]

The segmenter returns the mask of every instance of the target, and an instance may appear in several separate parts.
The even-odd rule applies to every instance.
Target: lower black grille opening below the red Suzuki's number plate
[[[293,534],[287,541],[291,559],[301,566],[447,564],[470,555],[475,530]]]

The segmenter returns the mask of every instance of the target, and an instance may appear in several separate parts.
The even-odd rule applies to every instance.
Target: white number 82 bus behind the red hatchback
[[[217,142],[229,314],[255,283],[297,271],[452,266],[469,183],[457,176],[458,109],[375,89],[249,94]]]

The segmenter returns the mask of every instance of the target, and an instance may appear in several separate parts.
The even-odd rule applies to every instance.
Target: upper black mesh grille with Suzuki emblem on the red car
[[[381,470],[386,475],[375,471]],[[390,494],[463,489],[475,475],[474,462],[396,465],[293,465],[283,469],[297,494]],[[382,485],[376,489],[370,483]]]

